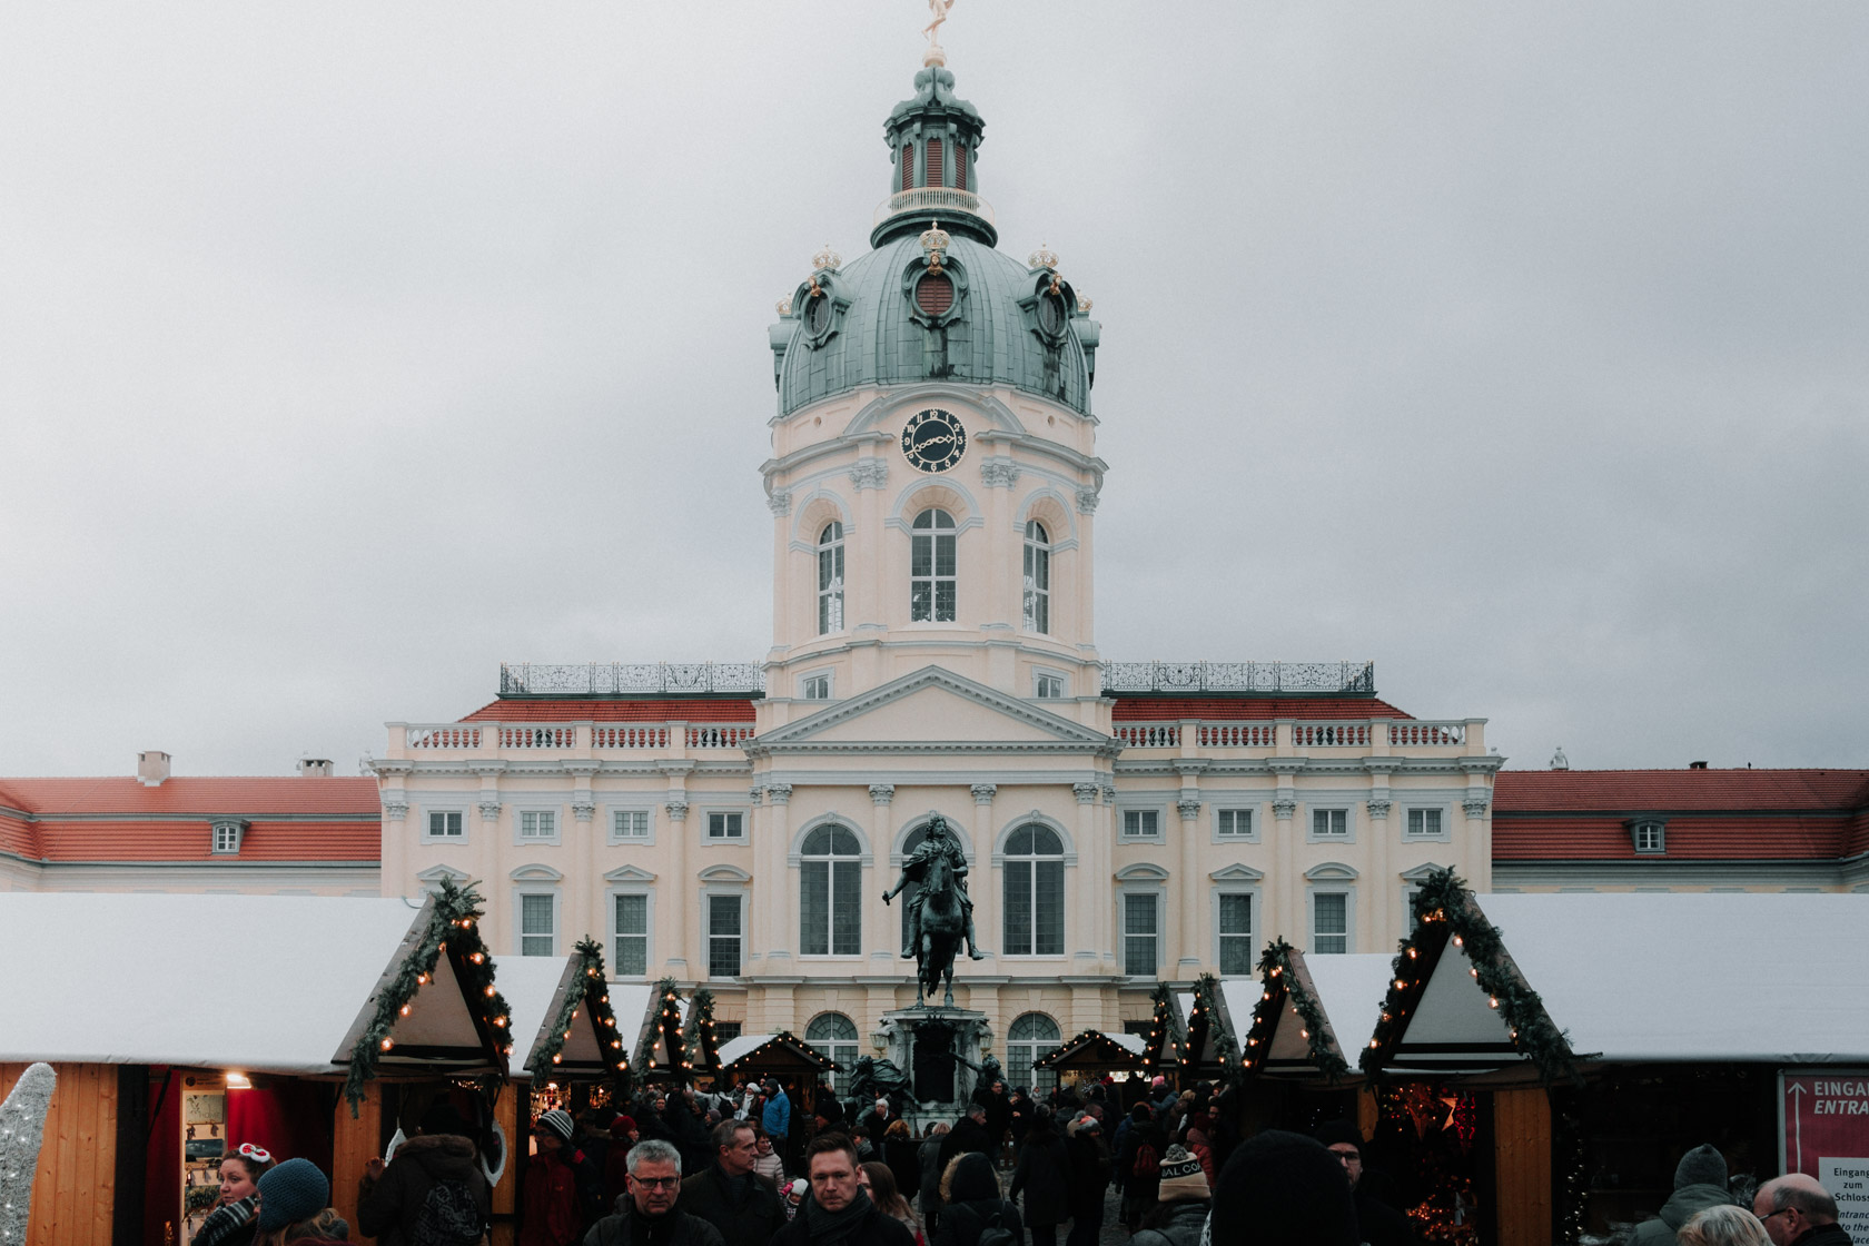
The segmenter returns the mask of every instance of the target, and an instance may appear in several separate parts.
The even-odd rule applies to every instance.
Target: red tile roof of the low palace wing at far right
[[[1665,857],[1628,822],[1667,822]],[[1869,852],[1869,770],[1503,770],[1493,859],[1833,859]]]

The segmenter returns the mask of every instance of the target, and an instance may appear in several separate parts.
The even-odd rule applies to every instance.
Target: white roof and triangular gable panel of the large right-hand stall
[[[1869,895],[1477,895],[1577,1063],[1869,1059]],[[1417,930],[1417,942],[1420,942]],[[1742,984],[1762,984],[1759,1007]],[[1389,1067],[1516,1067],[1512,1027],[1447,942]]]

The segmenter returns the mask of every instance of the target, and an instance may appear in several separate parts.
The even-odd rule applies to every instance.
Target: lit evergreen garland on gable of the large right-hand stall
[[[1538,992],[1512,964],[1499,928],[1480,912],[1465,880],[1450,869],[1430,874],[1415,895],[1415,928],[1396,951],[1389,998],[1376,1022],[1376,1035],[1363,1052],[1364,1072],[1381,1076],[1389,1052],[1400,1042],[1404,1022],[1420,1003],[1448,942],[1465,951],[1473,962],[1471,973],[1486,990],[1491,1007],[1499,1009],[1512,1046],[1538,1069],[1544,1083],[1549,1085],[1559,1078],[1576,1080],[1579,1055],[1570,1050],[1570,1037],[1551,1022]]]

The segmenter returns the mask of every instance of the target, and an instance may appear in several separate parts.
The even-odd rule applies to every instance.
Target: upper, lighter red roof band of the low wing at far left
[[[144,786],[131,775],[103,779],[0,779],[0,805],[32,814],[78,813],[196,814],[258,818],[265,814],[321,814],[381,818],[383,805],[370,777],[310,779],[265,775],[207,779],[181,775]]]

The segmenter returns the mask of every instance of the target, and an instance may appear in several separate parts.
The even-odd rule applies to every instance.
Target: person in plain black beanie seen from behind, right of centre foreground
[[[1239,1143],[1213,1186],[1207,1237],[1252,1246],[1359,1246],[1344,1164],[1303,1134],[1262,1130]]]

